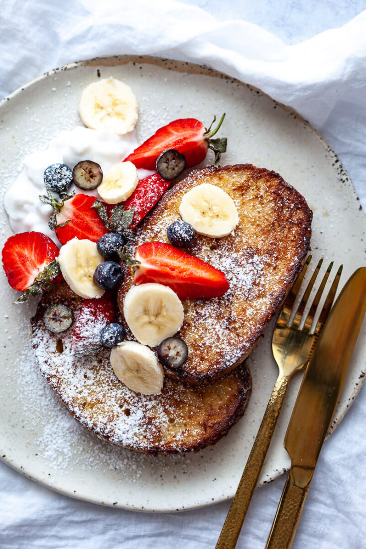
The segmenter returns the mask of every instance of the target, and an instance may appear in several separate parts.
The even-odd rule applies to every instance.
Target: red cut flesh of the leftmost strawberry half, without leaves
[[[43,233],[32,231],[14,234],[5,242],[2,253],[3,267],[10,286],[25,292],[58,254],[56,244]],[[62,276],[58,276],[52,283],[61,280]]]

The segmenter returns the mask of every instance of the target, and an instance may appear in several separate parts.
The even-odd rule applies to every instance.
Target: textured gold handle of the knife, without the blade
[[[291,466],[265,549],[289,549],[314,469]]]

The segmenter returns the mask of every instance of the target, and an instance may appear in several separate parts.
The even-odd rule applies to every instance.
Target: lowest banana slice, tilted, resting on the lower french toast
[[[110,352],[110,363],[118,379],[136,393],[156,395],[163,389],[163,367],[146,345],[119,343]]]

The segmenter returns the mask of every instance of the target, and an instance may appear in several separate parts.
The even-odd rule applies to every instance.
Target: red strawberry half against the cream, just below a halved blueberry
[[[97,242],[103,234],[109,232],[97,212],[92,209],[94,203],[95,197],[83,193],[75,194],[64,201],[56,214],[54,229],[61,244],[66,244],[75,237]]]

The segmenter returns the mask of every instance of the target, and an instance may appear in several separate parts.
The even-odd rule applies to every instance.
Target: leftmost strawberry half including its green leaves
[[[40,295],[62,280],[58,254],[56,244],[43,233],[31,231],[8,238],[2,252],[5,275],[14,290],[25,292],[15,303]]]

